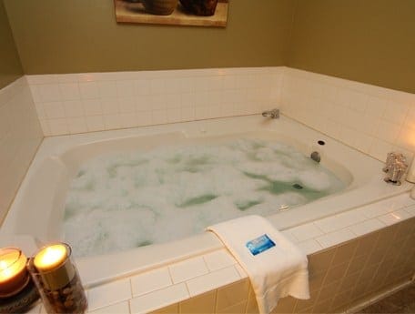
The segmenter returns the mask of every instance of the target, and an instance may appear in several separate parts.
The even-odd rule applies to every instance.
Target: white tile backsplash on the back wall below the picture
[[[140,127],[276,106],[281,67],[27,76],[45,136]]]

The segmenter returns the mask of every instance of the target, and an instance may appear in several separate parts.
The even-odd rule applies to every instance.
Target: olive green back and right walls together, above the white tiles
[[[413,0],[230,0],[226,28],[117,25],[113,0],[4,1],[25,74],[284,65],[415,92]]]

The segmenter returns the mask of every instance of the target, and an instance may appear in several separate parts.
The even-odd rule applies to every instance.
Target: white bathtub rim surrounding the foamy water
[[[319,151],[321,163],[337,174],[348,187],[339,194],[320,198],[304,206],[277,211],[269,220],[278,229],[334,215],[341,211],[398,195],[410,184],[391,186],[383,181],[383,163],[325,137],[319,132],[281,116],[240,116],[197,122],[139,127],[66,137],[47,137],[39,148],[0,232],[2,235],[28,235],[45,243],[62,239],[61,221],[66,189],[79,165],[90,157],[108,151],[157,147],[171,143],[192,143],[208,137],[232,137],[256,133],[289,143],[309,155]],[[326,144],[320,146],[319,140]],[[221,248],[210,233],[150,245],[115,254],[79,258],[77,264],[86,285],[96,285],[137,271]]]

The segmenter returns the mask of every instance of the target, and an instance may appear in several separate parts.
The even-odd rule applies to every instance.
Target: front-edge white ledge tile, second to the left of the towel
[[[180,283],[130,299],[130,310],[131,314],[147,313],[151,310],[161,309],[188,298],[189,295],[186,285]]]

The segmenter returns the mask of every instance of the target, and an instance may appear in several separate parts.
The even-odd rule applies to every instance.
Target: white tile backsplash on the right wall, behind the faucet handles
[[[415,95],[285,68],[280,108],[329,137],[380,160],[415,152]]]

